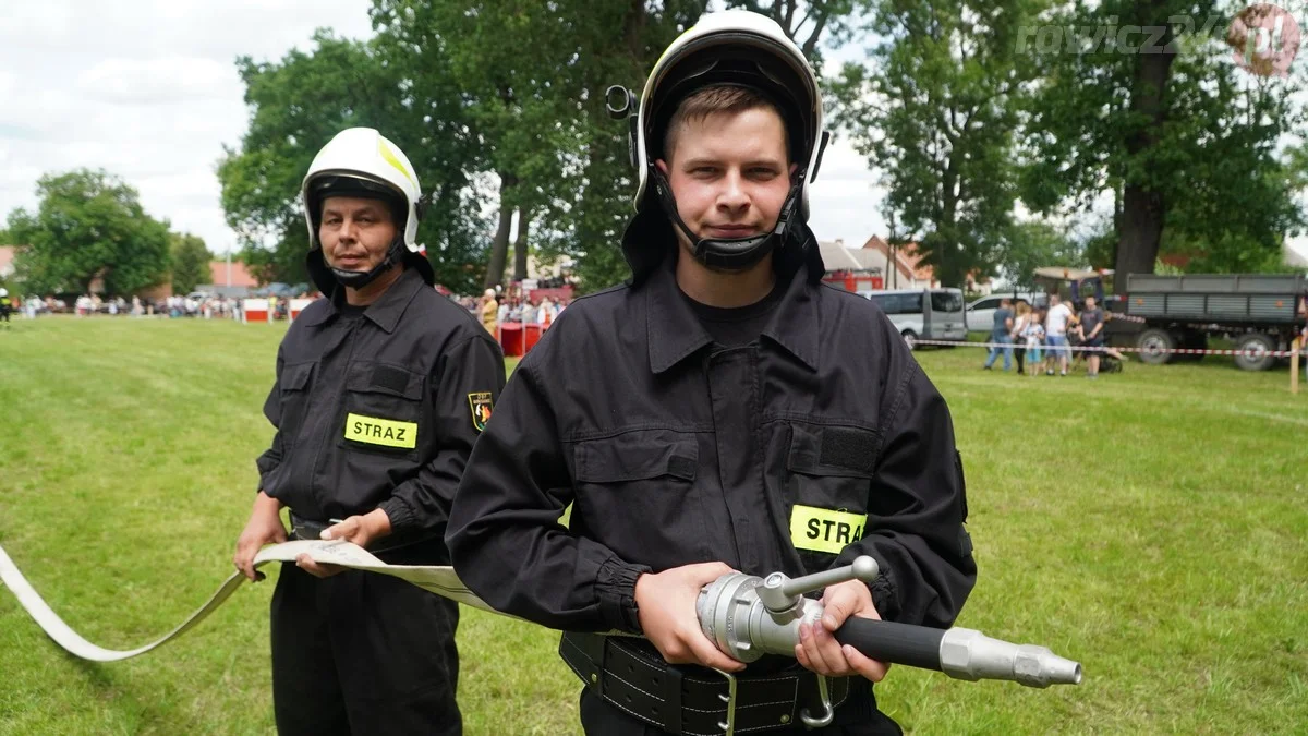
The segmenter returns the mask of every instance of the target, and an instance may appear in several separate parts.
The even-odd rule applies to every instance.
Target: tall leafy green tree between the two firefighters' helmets
[[[375,1],[382,43],[411,50],[402,62],[405,73],[420,79],[439,65],[463,94],[468,131],[481,153],[476,164],[497,189],[484,285],[504,280],[515,213],[522,248],[530,245],[538,212],[545,232],[574,225],[578,190],[589,183],[581,175],[586,149],[596,134],[617,138],[594,128],[596,117],[585,105],[602,113],[596,92],[603,86],[594,71],[608,65],[615,51],[611,29],[644,28],[624,26],[624,14],[647,13],[644,3],[628,5],[489,0],[468,12],[449,3]],[[621,132],[619,124],[608,127]],[[604,191],[611,195],[612,187]]]

